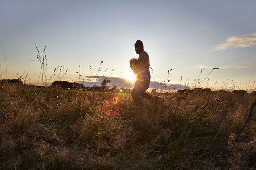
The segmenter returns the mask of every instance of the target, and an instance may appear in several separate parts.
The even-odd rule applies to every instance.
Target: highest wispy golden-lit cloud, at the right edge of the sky
[[[251,47],[256,45],[256,32],[252,34],[245,34],[242,36],[228,37],[225,43],[217,45],[216,50],[224,50],[229,47]]]

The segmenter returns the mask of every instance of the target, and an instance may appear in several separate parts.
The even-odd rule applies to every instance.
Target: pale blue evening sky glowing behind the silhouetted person
[[[249,0],[0,0],[0,76],[6,78],[7,68],[8,78],[28,74],[36,83],[36,45],[41,56],[46,46],[47,79],[63,65],[66,81],[78,81],[79,70],[82,78],[95,76],[99,66],[99,76],[108,68],[105,76],[131,77],[129,60],[138,58],[134,43],[140,39],[151,81],[167,81],[172,69],[171,84],[192,84],[202,69],[201,80],[217,67],[208,86],[234,80],[246,88],[256,79],[255,7]]]

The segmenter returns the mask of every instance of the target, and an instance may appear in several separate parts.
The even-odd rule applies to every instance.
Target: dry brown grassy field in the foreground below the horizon
[[[255,92],[155,95],[2,84],[0,169],[256,167]]]

